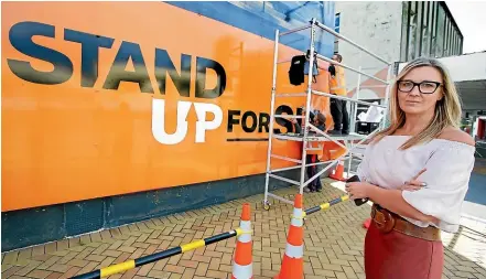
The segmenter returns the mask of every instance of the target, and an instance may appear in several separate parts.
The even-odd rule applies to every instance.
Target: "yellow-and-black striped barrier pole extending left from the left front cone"
[[[144,256],[138,259],[128,260],[118,265],[109,266],[106,268],[101,268],[88,273],[78,275],[75,277],[72,277],[73,279],[97,279],[97,278],[105,278],[110,275],[123,272],[130,269],[133,269],[136,267],[140,267],[150,262],[154,262],[164,258],[169,258],[185,251],[194,250],[204,246],[207,246],[209,244],[214,244],[217,242],[222,242],[235,236],[239,236],[241,234],[245,234],[245,232],[241,228],[237,228],[234,230],[229,230],[219,235],[210,236],[204,239],[195,240],[188,244],[181,245],[179,247],[174,247],[168,250],[163,250],[160,253],[155,253],[149,256]]]

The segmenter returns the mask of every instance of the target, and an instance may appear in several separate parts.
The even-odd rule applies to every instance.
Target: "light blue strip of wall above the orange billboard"
[[[334,2],[324,1],[228,1],[228,2],[168,2],[175,7],[202,14],[242,29],[250,33],[274,40],[276,29],[281,32],[309,24],[312,18],[334,29]],[[334,53],[334,36],[316,31],[316,51],[331,57]],[[281,37],[282,44],[305,52],[310,45],[310,30]]]

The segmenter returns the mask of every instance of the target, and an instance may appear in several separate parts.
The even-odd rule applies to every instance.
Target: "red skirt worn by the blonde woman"
[[[443,262],[442,242],[384,234],[371,222],[365,238],[366,279],[441,279]]]

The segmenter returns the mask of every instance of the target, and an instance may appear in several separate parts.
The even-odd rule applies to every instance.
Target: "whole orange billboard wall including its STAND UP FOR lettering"
[[[264,172],[272,41],[160,2],[3,2],[1,21],[2,212]],[[288,67],[278,90],[304,92]]]

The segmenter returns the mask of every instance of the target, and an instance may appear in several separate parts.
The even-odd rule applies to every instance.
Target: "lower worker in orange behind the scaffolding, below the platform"
[[[305,109],[302,109],[302,112],[305,115]],[[317,110],[314,111],[309,111],[310,116],[309,116],[309,121],[314,125],[317,129],[320,129],[321,131],[325,131],[326,130],[326,117],[321,114]],[[294,130],[296,133],[302,133],[302,128],[301,125],[296,121],[296,119],[292,119],[291,120],[293,126],[294,126]],[[309,127],[307,127],[309,129]],[[309,142],[312,144],[312,142]],[[317,147],[313,147],[311,149],[307,149],[306,155],[305,155],[305,164],[311,164],[311,163],[317,163],[320,161],[320,158],[322,157],[322,147],[321,144],[317,144]],[[318,168],[317,165],[309,165],[306,168],[306,173],[307,173],[307,180],[313,178],[316,173],[318,172]],[[317,176],[315,178],[315,180],[311,181],[309,183],[309,186],[305,189],[305,192],[321,192],[322,191],[322,183],[321,183],[321,178]]]

